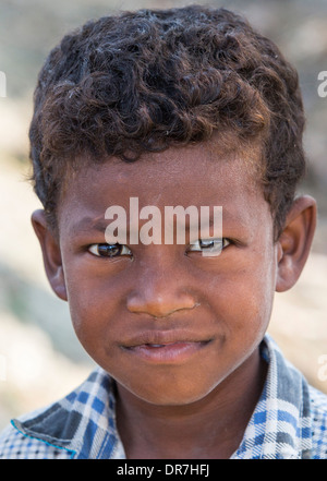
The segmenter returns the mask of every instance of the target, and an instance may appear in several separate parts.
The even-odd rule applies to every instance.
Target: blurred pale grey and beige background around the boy
[[[31,213],[39,206],[27,182],[27,130],[37,73],[49,49],[86,20],[119,10],[186,3],[1,0],[0,71],[7,77],[7,96],[0,98],[0,429],[10,418],[70,392],[93,366],[75,339],[68,305],[50,291],[29,224]],[[310,159],[301,191],[317,199],[319,219],[300,281],[289,292],[276,294],[270,333],[310,382],[327,393],[327,96],[318,95],[318,74],[327,71],[327,1],[206,4],[244,13],[300,73]]]

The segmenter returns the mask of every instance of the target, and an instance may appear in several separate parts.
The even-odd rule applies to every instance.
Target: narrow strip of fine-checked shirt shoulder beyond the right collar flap
[[[327,459],[327,395],[310,386],[312,457]]]

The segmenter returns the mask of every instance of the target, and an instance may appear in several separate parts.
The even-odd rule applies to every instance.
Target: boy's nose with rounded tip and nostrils
[[[153,317],[167,317],[198,304],[190,289],[183,286],[182,276],[178,277],[175,269],[160,268],[158,264],[155,268],[143,270],[137,287],[130,292],[126,302],[130,312]]]

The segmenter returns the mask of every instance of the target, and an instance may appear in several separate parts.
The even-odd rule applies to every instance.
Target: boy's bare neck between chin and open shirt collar
[[[118,385],[117,425],[126,457],[229,458],[258,401],[266,369],[257,350],[207,396],[185,406],[152,405]]]

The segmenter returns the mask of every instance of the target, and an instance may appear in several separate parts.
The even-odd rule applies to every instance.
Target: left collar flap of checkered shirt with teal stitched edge
[[[124,459],[114,404],[114,382],[97,368],[65,398],[13,424],[22,434],[62,447],[75,459]]]

